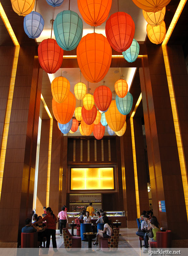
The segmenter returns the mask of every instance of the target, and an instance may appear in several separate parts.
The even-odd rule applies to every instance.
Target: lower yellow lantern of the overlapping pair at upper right
[[[152,27],[151,25],[147,24],[146,31],[147,31],[149,40],[152,43],[159,44],[164,40],[166,36],[165,22],[163,21],[160,25],[156,27]]]

